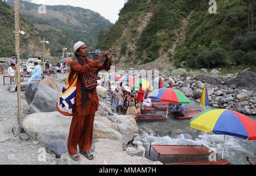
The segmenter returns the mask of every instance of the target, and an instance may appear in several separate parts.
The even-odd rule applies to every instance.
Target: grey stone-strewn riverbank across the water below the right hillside
[[[201,93],[207,83],[209,106],[256,115],[256,73],[243,71],[218,76],[189,74],[185,69],[178,69],[170,74],[162,73],[160,76],[163,78],[164,87],[170,87],[172,81],[174,88],[181,90],[196,102],[200,102]]]

